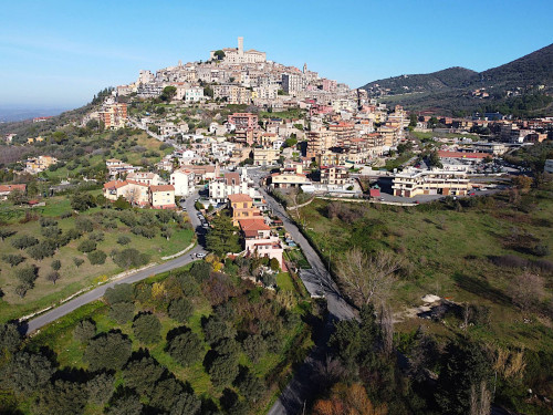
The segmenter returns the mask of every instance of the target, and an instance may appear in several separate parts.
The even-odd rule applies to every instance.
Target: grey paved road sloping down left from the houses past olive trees
[[[198,197],[198,195],[194,194],[186,200],[186,208],[187,208],[187,211],[189,212],[190,221],[191,221],[192,226],[195,227],[195,229],[197,231],[199,231],[199,235],[198,235],[198,242],[199,243],[196,247],[194,247],[187,253],[185,253],[178,258],[175,258],[170,261],[147,268],[143,271],[134,272],[134,273],[129,274],[128,277],[122,278],[117,281],[113,281],[113,282],[109,282],[107,284],[97,287],[97,288],[95,288],[95,289],[93,289],[93,290],[91,290],[82,295],[75,297],[73,300],[70,300],[70,301],[56,307],[55,309],[52,309],[52,310],[32,319],[32,320],[30,320],[27,323],[22,323],[22,325],[20,326],[20,331],[22,332],[22,334],[32,333],[32,332],[39,330],[40,328],[64,317],[65,314],[69,314],[70,312],[72,312],[76,309],[79,309],[80,307],[87,304],[92,301],[98,300],[100,298],[102,298],[104,295],[105,291],[108,288],[112,288],[112,287],[114,287],[116,284],[121,284],[121,283],[137,282],[137,281],[144,280],[150,276],[155,276],[155,274],[161,273],[161,272],[167,272],[167,271],[170,271],[171,269],[175,269],[175,268],[184,267],[187,263],[192,262],[196,259],[197,253],[200,253],[200,252],[206,253],[206,251],[202,247],[204,229],[200,226],[200,221],[199,221],[198,217],[196,216],[197,211],[194,207],[194,199],[196,197]],[[185,247],[182,247],[182,248],[185,248]]]

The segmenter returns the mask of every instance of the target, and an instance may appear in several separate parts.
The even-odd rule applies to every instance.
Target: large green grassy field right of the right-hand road
[[[338,259],[349,247],[367,252],[389,249],[407,261],[406,272],[394,288],[395,311],[421,305],[427,293],[446,297],[455,302],[486,305],[491,322],[486,329],[473,329],[473,335],[487,342],[535,351],[553,350],[552,322],[543,314],[523,322],[523,314],[505,292],[513,279],[523,272],[512,267],[499,267],[491,259],[507,255],[528,260],[553,260],[551,252],[535,257],[522,242],[553,247],[552,186],[523,196],[530,211],[514,209],[507,195],[482,199],[477,207],[460,211],[439,204],[418,207],[386,207],[341,204],[345,220],[327,218],[327,201],[316,200],[302,208],[305,229],[319,250],[332,251],[335,273]],[[347,214],[348,212],[348,214]],[[313,229],[313,230],[311,230]],[[508,241],[514,240],[514,245]],[[552,299],[553,278],[545,279],[545,304]],[[428,326],[438,335],[450,336],[456,328],[429,320],[404,319],[399,331]]]

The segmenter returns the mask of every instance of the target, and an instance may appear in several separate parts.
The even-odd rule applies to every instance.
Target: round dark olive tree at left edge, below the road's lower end
[[[2,369],[2,383],[17,394],[30,394],[50,381],[55,372],[52,362],[42,354],[15,353]]]

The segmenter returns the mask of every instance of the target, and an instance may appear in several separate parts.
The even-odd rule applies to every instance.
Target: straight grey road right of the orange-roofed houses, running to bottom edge
[[[261,176],[261,172],[259,170],[252,173],[249,172],[249,174],[255,181],[259,180]],[[300,232],[295,224],[290,219],[282,206],[269,196],[262,188],[260,191],[264,196],[273,214],[282,220],[286,231],[301,246],[305,258],[313,269],[311,277],[315,274],[315,278],[319,279],[328,307],[328,317],[325,321],[323,330],[321,330],[317,339],[315,340],[315,347],[294,373],[292,381],[282,391],[279,400],[268,412],[268,415],[296,415],[302,413],[305,402],[313,397],[319,390],[316,382],[313,382],[313,375],[316,373],[317,363],[324,362],[326,357],[326,344],[334,331],[334,322],[337,320],[353,319],[355,318],[355,312],[353,308],[344,301],[323,261],[311,247],[305,237]]]

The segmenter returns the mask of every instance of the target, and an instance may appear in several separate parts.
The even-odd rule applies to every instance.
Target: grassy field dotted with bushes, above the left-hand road
[[[24,224],[20,221],[24,218],[27,209],[17,209],[10,206],[0,206],[0,217],[8,222],[6,228],[17,231],[17,234],[3,241],[0,241],[0,252],[6,255],[22,255],[25,260],[17,267],[10,267],[4,260],[1,262],[0,287],[3,297],[0,301],[0,321],[4,322],[11,319],[17,319],[28,313],[46,308],[69,295],[105,280],[106,277],[123,271],[111,258],[109,253],[113,249],[123,250],[125,248],[135,248],[142,253],[149,256],[150,262],[160,261],[161,257],[170,256],[179,252],[190,245],[194,232],[189,228],[178,228],[176,224],[169,224],[174,229],[174,234],[169,240],[160,236],[157,231],[152,239],[135,235],[131,228],[124,225],[117,218],[107,220],[105,217],[115,211],[101,208],[92,208],[86,212],[79,215],[80,217],[90,218],[93,221],[94,234],[102,232],[104,240],[97,242],[97,249],[103,250],[108,258],[104,264],[91,264],[87,260],[87,255],[77,250],[79,245],[87,239],[90,234],[83,235],[76,240],[72,240],[64,247],[56,250],[53,257],[44,258],[43,260],[32,259],[25,250],[19,250],[12,247],[11,240],[23,235],[33,236],[39,240],[45,239],[41,236],[41,225],[38,220],[31,220]],[[55,218],[62,234],[75,228],[77,215],[67,218],[61,218],[62,214],[71,212],[69,198],[65,196],[53,197],[46,199],[46,206],[33,209],[38,216]],[[147,210],[140,210],[140,214]],[[153,214],[155,211],[152,211]],[[107,227],[106,224],[115,222],[116,228]],[[112,225],[113,226],[113,225]],[[129,243],[122,246],[117,243],[121,236],[129,238]],[[75,266],[73,258],[83,259],[84,262],[79,268]],[[46,276],[52,271],[51,263],[53,260],[61,261],[59,271],[60,279],[54,283],[46,280]],[[35,264],[39,268],[38,279],[34,282],[34,288],[30,289],[27,294],[21,298],[15,293],[15,288],[20,281],[15,278],[15,270],[22,267]]]

